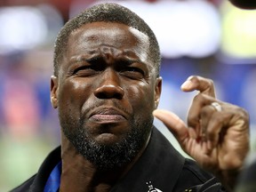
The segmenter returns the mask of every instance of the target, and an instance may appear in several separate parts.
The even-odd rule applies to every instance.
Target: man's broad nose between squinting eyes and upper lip
[[[107,69],[99,79],[99,87],[95,89],[94,95],[99,99],[118,99],[124,97],[124,89],[120,86],[120,79],[116,71]]]

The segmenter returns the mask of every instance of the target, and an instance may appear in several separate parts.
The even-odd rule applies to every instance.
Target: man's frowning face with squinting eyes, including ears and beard
[[[112,160],[132,153],[125,157],[131,160],[145,145],[161,92],[149,53],[148,36],[124,24],[93,22],[70,35],[59,76],[52,77],[52,105],[85,158],[98,161],[103,149],[95,150],[104,148],[100,161],[120,151]]]

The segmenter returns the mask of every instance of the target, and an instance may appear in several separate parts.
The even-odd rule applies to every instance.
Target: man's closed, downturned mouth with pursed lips
[[[118,123],[126,121],[124,113],[115,108],[101,108],[92,112],[89,119],[97,123]]]

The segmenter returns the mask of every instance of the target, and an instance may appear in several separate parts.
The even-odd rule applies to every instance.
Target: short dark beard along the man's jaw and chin
[[[141,119],[135,121],[133,116],[129,122],[130,132],[127,132],[122,140],[111,145],[104,145],[89,136],[86,127],[84,128],[84,117],[76,121],[71,116],[61,116],[60,112],[59,117],[62,132],[68,140],[78,153],[100,171],[108,171],[131,163],[147,142],[153,126],[152,115],[143,121]]]

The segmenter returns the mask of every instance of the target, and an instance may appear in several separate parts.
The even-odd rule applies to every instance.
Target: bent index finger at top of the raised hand
[[[212,79],[202,76],[189,76],[180,86],[183,92],[193,92],[195,90],[215,98],[214,84]]]

